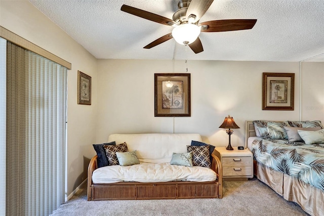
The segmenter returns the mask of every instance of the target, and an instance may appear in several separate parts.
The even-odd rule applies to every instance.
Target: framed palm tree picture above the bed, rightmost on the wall
[[[294,110],[295,74],[263,73],[262,110]]]

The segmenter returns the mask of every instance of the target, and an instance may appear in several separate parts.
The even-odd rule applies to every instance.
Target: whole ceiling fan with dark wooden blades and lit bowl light
[[[203,45],[198,38],[200,32],[251,29],[257,22],[256,19],[226,19],[199,23],[200,18],[204,16],[213,1],[180,0],[178,3],[179,10],[174,13],[172,19],[127,5],[121,6],[120,10],[153,22],[174,27],[171,33],[156,39],[143,48],[150,49],[174,38],[177,43],[188,45],[194,53],[200,53],[204,51]]]

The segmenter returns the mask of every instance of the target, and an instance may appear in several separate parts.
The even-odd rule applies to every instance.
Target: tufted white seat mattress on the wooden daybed
[[[117,182],[210,182],[215,181],[216,173],[207,167],[170,165],[170,163],[145,163],[131,166],[104,166],[92,175],[94,184]]]

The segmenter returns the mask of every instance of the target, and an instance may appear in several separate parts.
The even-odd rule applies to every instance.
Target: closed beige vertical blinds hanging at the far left
[[[66,94],[66,67],[7,42],[7,215],[64,202]]]

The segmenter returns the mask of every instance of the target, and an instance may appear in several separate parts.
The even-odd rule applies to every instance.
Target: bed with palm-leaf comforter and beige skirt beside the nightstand
[[[316,130],[324,138],[323,126],[318,122],[312,127],[319,128],[308,129],[311,131],[305,134]],[[272,139],[260,135],[263,129],[267,131],[266,127],[259,130],[253,121],[246,122],[246,147],[254,156],[254,174],[284,199],[298,203],[307,213],[324,215],[324,142],[310,145],[305,143],[308,140],[304,136],[305,142],[291,139],[287,136],[291,126],[302,125],[290,125],[289,121],[280,123],[281,129],[287,129],[286,134],[275,134],[281,137]]]

